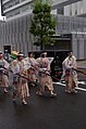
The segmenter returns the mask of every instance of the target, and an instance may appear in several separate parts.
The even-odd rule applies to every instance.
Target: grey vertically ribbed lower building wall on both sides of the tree
[[[40,47],[34,46],[34,37],[29,33],[32,15],[25,15],[0,24],[0,49],[11,49],[24,52],[38,51]],[[58,39],[57,46],[47,48],[50,50],[73,50],[78,60],[86,59],[86,18],[56,15],[58,25],[56,35],[71,35],[67,39]],[[66,44],[66,46],[65,46]],[[82,52],[81,52],[82,51]]]

